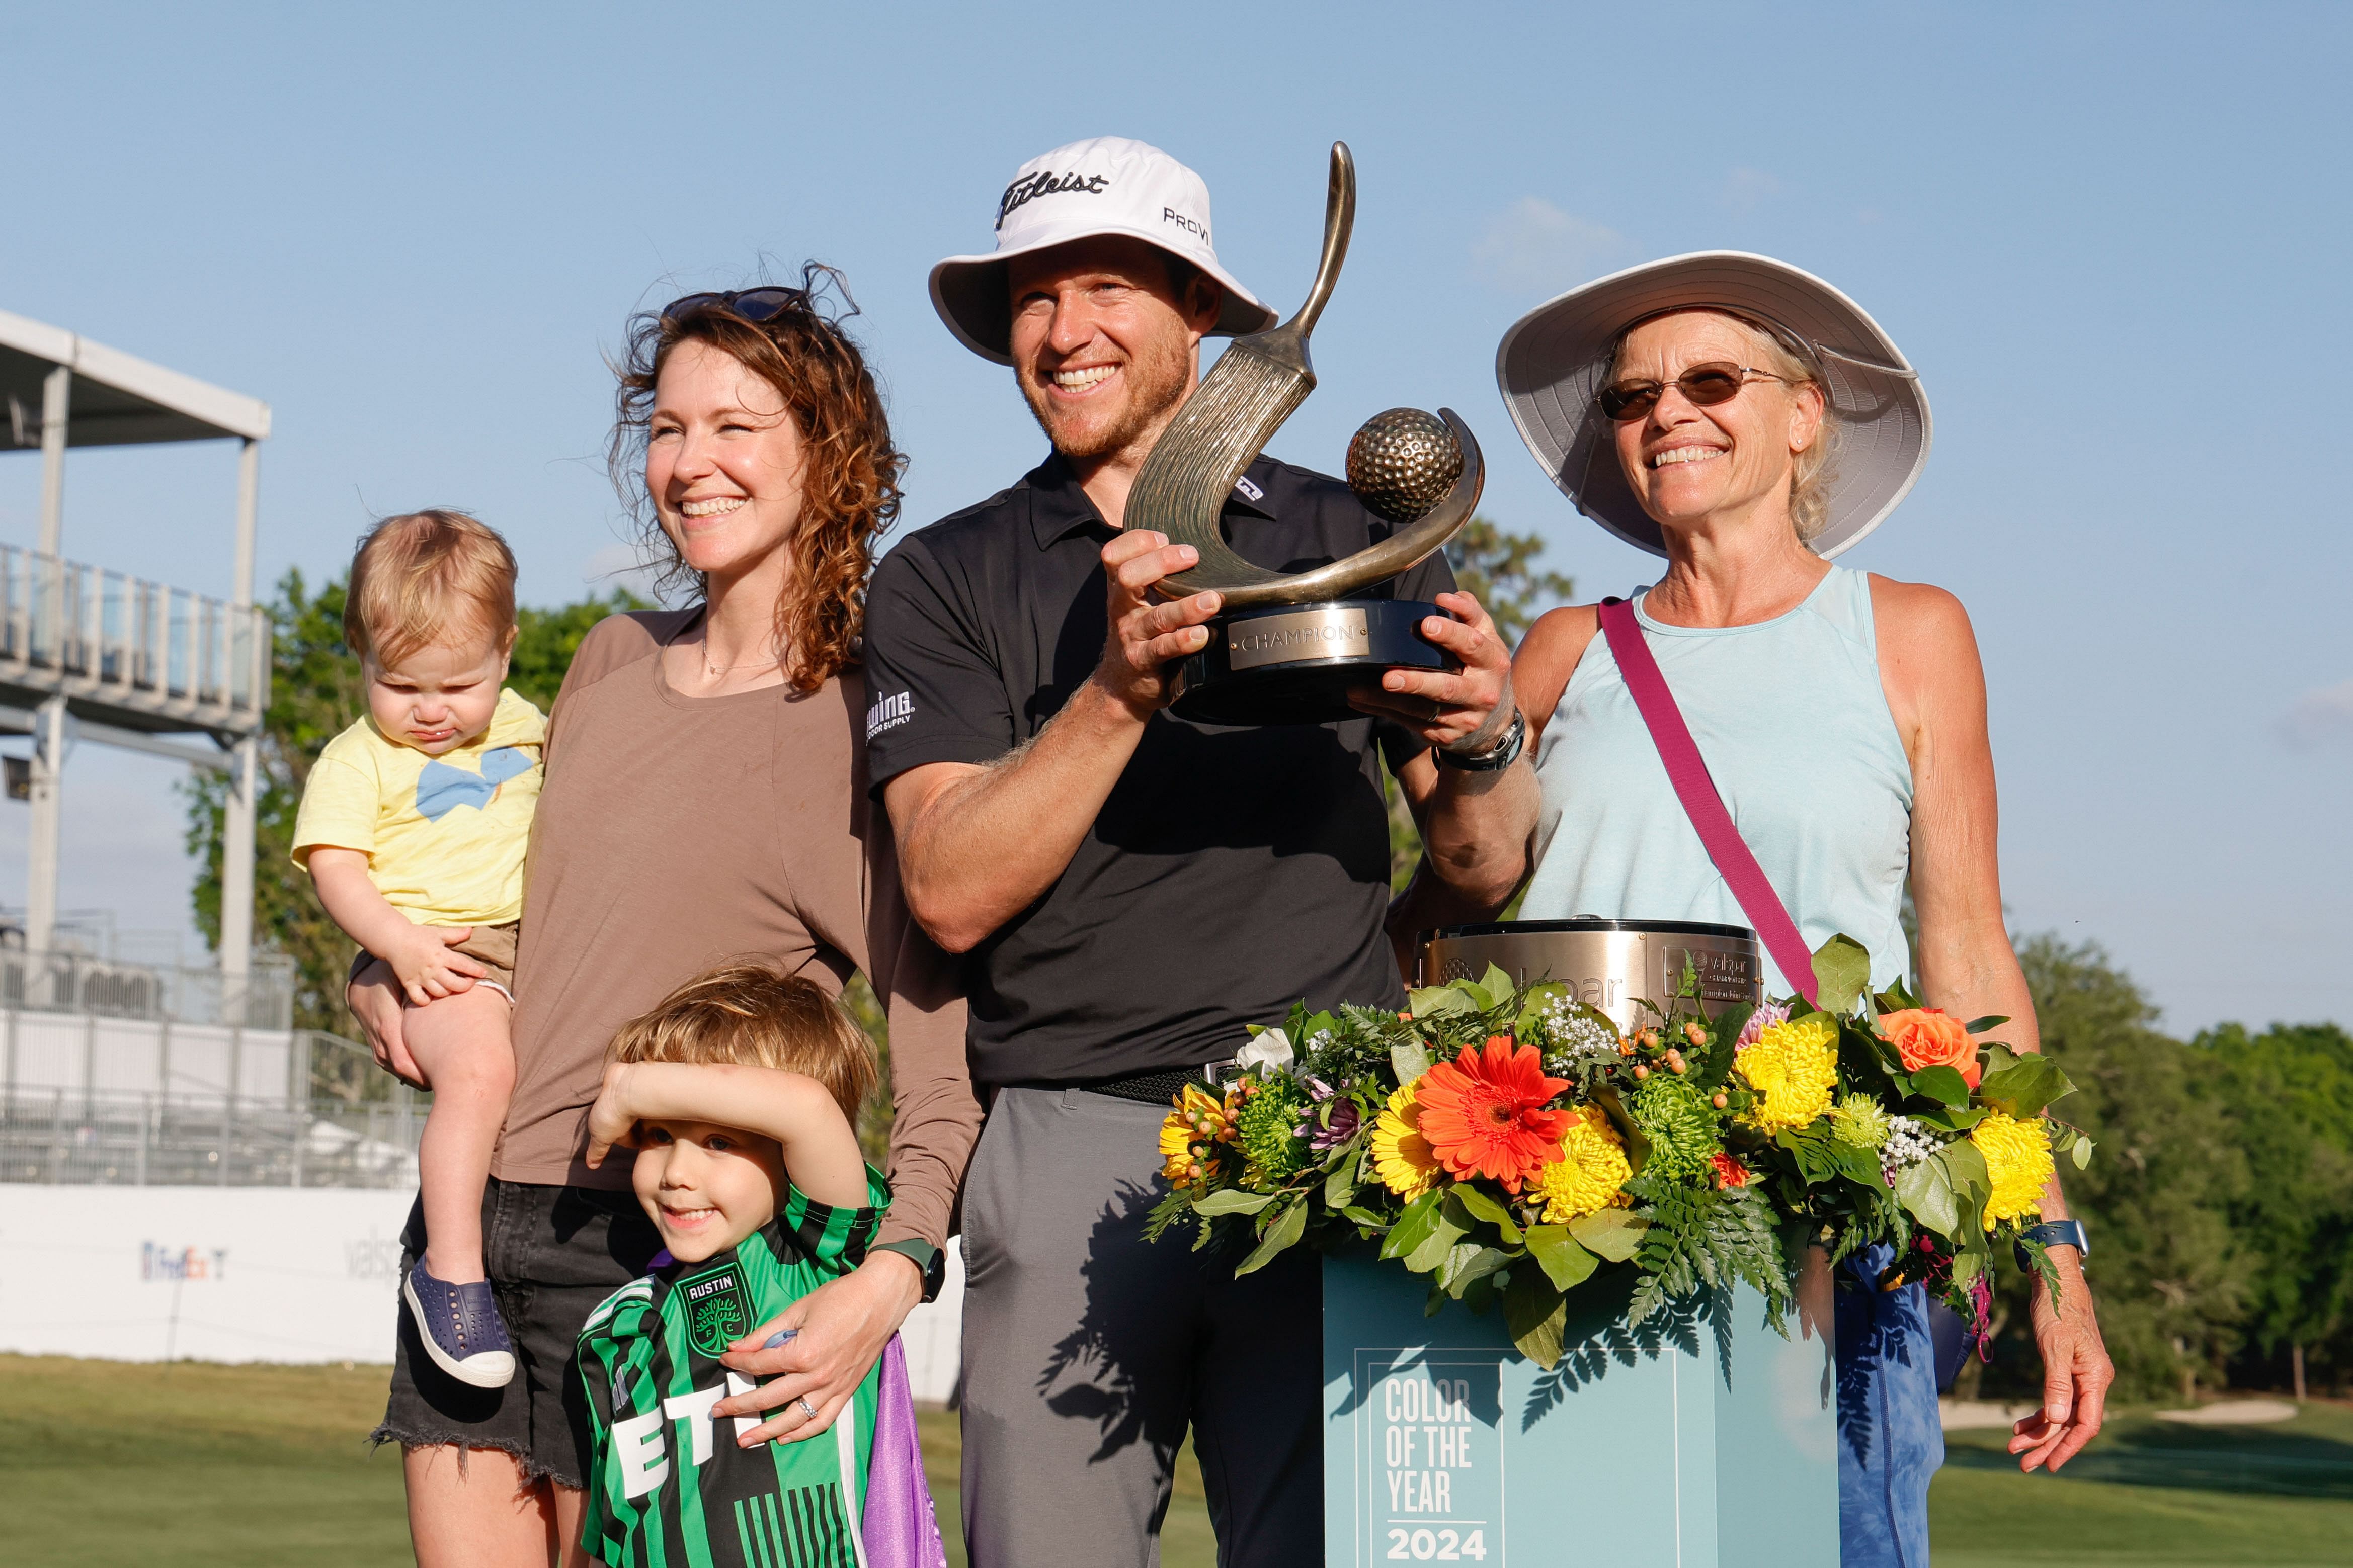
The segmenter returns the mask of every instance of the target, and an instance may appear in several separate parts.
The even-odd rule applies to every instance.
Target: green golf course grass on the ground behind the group
[[[139,1366],[0,1354],[0,1559],[75,1568],[409,1561],[400,1458],[369,1455],[386,1368]],[[2122,1413],[2059,1476],[2000,1432],[1948,1434],[1937,1568],[2318,1568],[2353,1561],[2353,1410],[2275,1427]],[[948,1561],[962,1568],[955,1418],[922,1413]],[[1165,1568],[1217,1561],[1186,1453]]]

